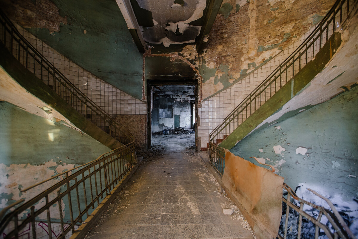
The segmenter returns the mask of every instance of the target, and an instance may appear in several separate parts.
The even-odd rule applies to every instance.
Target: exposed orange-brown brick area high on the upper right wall
[[[249,63],[255,62],[258,66],[270,56],[274,57],[279,47],[285,49],[308,32],[314,26],[315,16],[324,16],[334,0],[277,1],[271,4],[273,6],[267,0],[255,0],[255,4],[251,1],[237,12],[233,6],[233,14],[227,19],[217,15],[201,54],[207,65],[214,63],[217,75],[223,73],[218,68],[224,65],[229,67],[228,74],[237,79],[241,70],[249,68]],[[279,45],[271,51],[259,50],[272,44]]]

